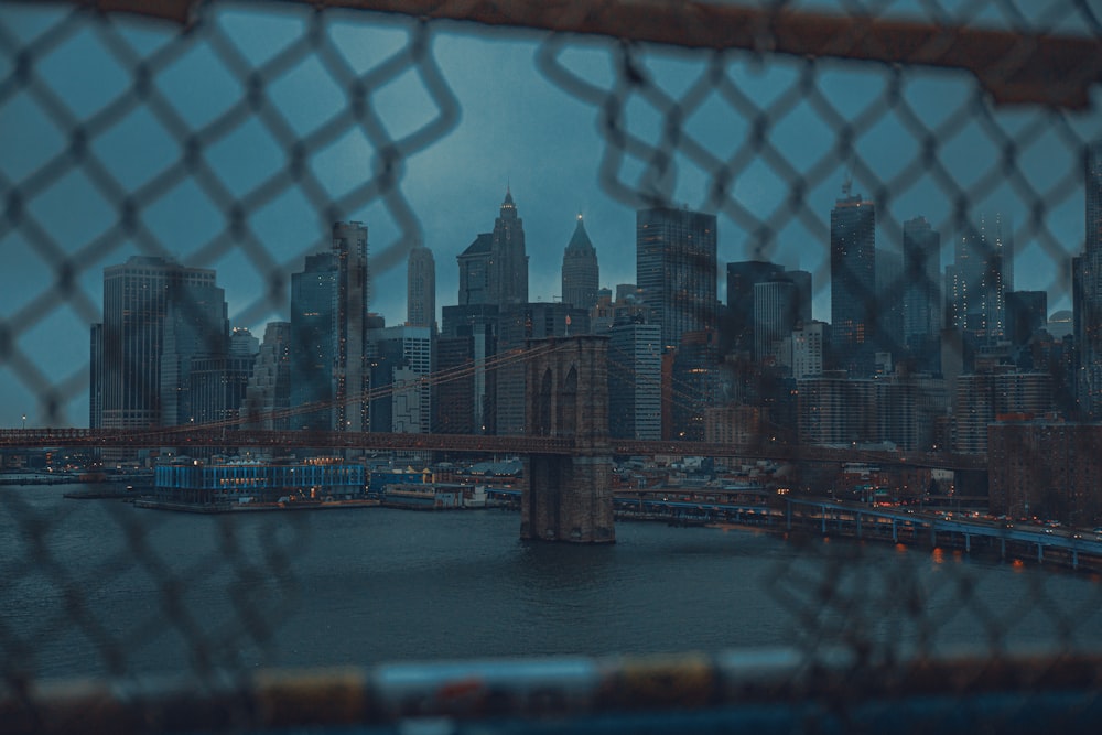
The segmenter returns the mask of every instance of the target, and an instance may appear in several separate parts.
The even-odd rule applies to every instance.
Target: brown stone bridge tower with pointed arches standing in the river
[[[526,433],[572,439],[575,451],[525,458],[520,538],[612,543],[608,338],[529,339],[528,348]]]

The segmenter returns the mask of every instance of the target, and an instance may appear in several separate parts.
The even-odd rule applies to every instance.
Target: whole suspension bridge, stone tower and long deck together
[[[172,447],[187,454],[187,447],[278,447],[519,455],[523,457],[526,480],[521,537],[581,543],[615,540],[611,483],[614,456],[860,462],[965,472],[986,468],[983,456],[807,446],[765,434],[748,444],[613,439],[608,431],[607,338],[585,335],[530,341],[528,349],[510,359],[522,361],[526,371],[523,435],[274,431],[223,422],[148,429],[4,430],[0,431],[0,450]]]

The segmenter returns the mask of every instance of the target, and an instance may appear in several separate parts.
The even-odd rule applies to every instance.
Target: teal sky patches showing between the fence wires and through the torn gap
[[[14,35],[33,40],[58,15],[56,9],[8,7],[0,11],[0,23]],[[248,63],[263,64],[279,48],[301,37],[311,17],[293,10],[272,15],[249,9],[217,9],[212,18],[224,25]],[[370,22],[365,20],[368,18]],[[411,29],[417,28],[414,22],[401,19],[378,21],[375,17],[344,15],[327,25],[334,43],[358,69],[368,68],[387,53],[400,50],[413,32]],[[139,56],[155,53],[175,32],[174,26],[142,25],[128,19],[117,20],[116,26]],[[454,292],[456,275],[447,263],[469,244],[474,233],[489,227],[487,213],[500,201],[503,187],[510,187],[525,207],[531,299],[548,302],[554,301],[561,288],[561,248],[569,241],[580,210],[601,258],[601,285],[615,289],[618,283],[634,282],[630,263],[635,212],[657,196],[674,206],[688,204],[694,209],[717,213],[721,263],[764,258],[788,269],[811,272],[815,285],[813,311],[818,318],[827,321],[830,281],[825,277],[829,271],[825,213],[847,173],[854,186],[873,199],[880,192],[892,195],[886,204],[877,202],[880,246],[899,251],[903,223],[925,216],[942,235],[941,262],[946,263],[947,250],[955,234],[963,229],[964,223],[958,220],[968,214],[957,209],[957,187],[966,191],[979,182],[990,182],[992,173],[1002,165],[1001,149],[984,137],[980,122],[973,122],[959,134],[947,134],[942,141],[938,162],[944,175],[937,179],[927,173],[897,186],[892,182],[921,159],[920,141],[912,134],[901,132],[898,126],[877,126],[856,136],[852,148],[843,151],[838,147],[836,131],[813,108],[801,107],[791,115],[779,116],[769,134],[769,144],[784,151],[787,163],[778,169],[775,159],[769,164],[760,156],[752,156],[727,182],[731,184],[724,194],[727,198],[714,198],[714,170],[702,169],[684,151],[677,150],[671,151],[670,166],[662,175],[650,167],[652,163],[646,155],[625,156],[613,166],[613,177],[618,182],[613,185],[602,174],[607,167],[605,162],[615,163],[611,159],[615,149],[608,143],[603,108],[573,97],[561,85],[550,82],[533,61],[538,50],[539,44],[530,37],[451,30],[432,34],[432,53],[451,94],[460,102],[462,115],[446,136],[402,162],[397,186],[404,204],[399,203],[397,208],[374,198],[341,209],[339,202],[365,185],[375,165],[369,142],[353,134],[316,151],[311,159],[311,171],[318,177],[321,191],[332,197],[336,212],[311,207],[292,188],[270,205],[246,213],[246,224],[252,234],[248,248],[212,247],[228,231],[229,213],[224,203],[212,201],[195,181],[173,187],[166,193],[171,196],[144,202],[138,213],[148,230],[149,237],[143,240],[101,241],[118,215],[110,198],[105,199],[96,191],[80,166],[75,175],[29,198],[28,216],[34,217],[47,242],[56,244],[56,252],[47,255],[51,251],[39,247],[39,240],[32,237],[37,230],[24,231],[22,225],[9,223],[12,228],[4,242],[10,247],[11,267],[0,274],[3,287],[0,318],[13,320],[21,329],[17,347],[33,367],[0,364],[0,406],[4,407],[0,409],[0,425],[18,425],[24,413],[32,424],[43,423],[50,420],[51,407],[55,411],[54,422],[63,414],[68,423],[87,415],[85,398],[77,388],[87,386],[84,329],[99,317],[96,312],[101,269],[125,261],[129,255],[152,255],[142,248],[160,248],[159,255],[171,253],[182,264],[214,268],[224,273],[226,280],[220,285],[230,294],[231,325],[248,327],[259,335],[269,321],[284,318],[280,311],[287,309],[285,284],[290,273],[301,266],[305,255],[323,247],[332,223],[364,221],[371,230],[371,250],[378,266],[376,279],[383,279],[376,285],[388,285],[376,289],[371,309],[393,323],[401,318],[406,294],[389,284],[404,280],[401,277],[406,248],[415,241],[430,248],[441,274],[437,293]],[[636,61],[651,88],[677,93],[707,73],[703,55],[680,55],[659,48],[638,53]],[[48,64],[43,61],[35,66],[36,73],[77,117],[102,109],[130,82],[128,73],[86,35],[75,36],[47,56]],[[619,68],[616,44],[598,40],[584,47],[566,48],[561,62],[572,73],[605,86],[611,86]],[[776,90],[797,83],[802,67],[800,62],[780,58],[761,69],[735,55],[724,63],[724,68],[732,83],[750,99],[766,105],[775,99]],[[89,76],[97,69],[100,77]],[[306,136],[316,131],[327,115],[336,114],[347,104],[326,76],[324,69],[306,67],[272,84],[271,106],[287,116],[292,132]],[[494,80],[491,87],[487,79]],[[219,67],[217,55],[202,42],[163,74],[154,75],[154,82],[193,129],[217,120],[240,96],[239,85]],[[852,65],[824,74],[820,88],[842,115],[856,116],[879,99],[887,83],[880,71]],[[515,104],[518,89],[523,90],[523,106]],[[904,82],[900,94],[926,125],[937,126],[944,121],[944,110],[971,104],[973,86],[965,77],[916,69]],[[393,134],[415,130],[436,111],[417,78],[403,77],[385,94],[372,97],[372,101],[378,104],[383,122]],[[629,94],[623,104],[630,118],[631,133],[658,145],[662,111],[647,101],[641,89]],[[42,115],[36,102],[20,97],[0,119],[4,130],[10,130],[22,143],[6,151],[0,160],[0,170],[15,186],[51,161],[58,145],[64,148],[65,131],[43,123]],[[991,110],[985,115],[988,122],[1020,127],[1035,125],[1040,114]],[[138,118],[141,116],[128,121],[129,127],[120,129],[120,133],[95,137],[89,147],[120,186],[129,191],[141,190],[171,165],[181,151],[163,126]],[[1092,121],[1089,115],[1069,116],[1062,123],[1089,129]],[[1026,214],[1029,208],[1023,204],[1020,187],[1009,181],[984,184],[983,193],[969,205],[976,216],[981,212],[1004,213],[1004,226],[1013,233],[1013,240],[1027,263],[1019,267],[1015,287],[1046,291],[1050,310],[1059,311],[1070,307],[1070,284],[1065,278],[1065,264],[1055,258],[1057,253],[1070,258],[1081,249],[1083,199],[1081,186],[1061,184],[1069,171],[1078,170],[1078,152],[1067,150],[1061,143],[1058,126],[1050,127],[1051,130],[1034,136],[1018,152],[1029,185],[1037,192],[1059,193],[1051,198],[1040,223]],[[745,145],[750,132],[747,117],[719,100],[710,101],[685,119],[684,130],[702,147],[714,150],[721,160]],[[136,149],[144,155],[133,155]],[[204,150],[210,175],[222,181],[233,196],[248,194],[264,176],[279,170],[282,158],[279,141],[273,142],[263,126],[255,121]],[[790,209],[789,186],[795,183],[790,176],[812,171],[814,175],[804,182],[803,188],[806,213],[800,215],[800,210]],[[947,179],[952,183],[947,183]],[[634,194],[627,194],[628,190]],[[1028,197],[1025,202],[1029,202]],[[396,220],[396,213],[406,213],[407,220]],[[329,214],[339,217],[331,218]],[[25,305],[52,295],[58,267],[56,253],[82,253],[65,309],[50,318],[17,321],[23,317]],[[283,290],[272,288],[280,281],[284,283]],[[719,284],[721,301],[725,301],[724,287],[722,282]],[[28,375],[41,376],[41,380],[34,378],[28,383]],[[28,385],[33,387],[33,400],[26,396]]]

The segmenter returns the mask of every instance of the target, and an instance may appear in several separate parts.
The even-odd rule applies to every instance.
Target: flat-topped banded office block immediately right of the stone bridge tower
[[[662,329],[618,324],[608,331],[608,433],[662,437]]]

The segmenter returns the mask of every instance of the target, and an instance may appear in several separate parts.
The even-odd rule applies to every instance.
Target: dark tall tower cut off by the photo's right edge
[[[1071,261],[1076,396],[1082,418],[1102,419],[1102,140],[1087,149],[1087,242]]]

